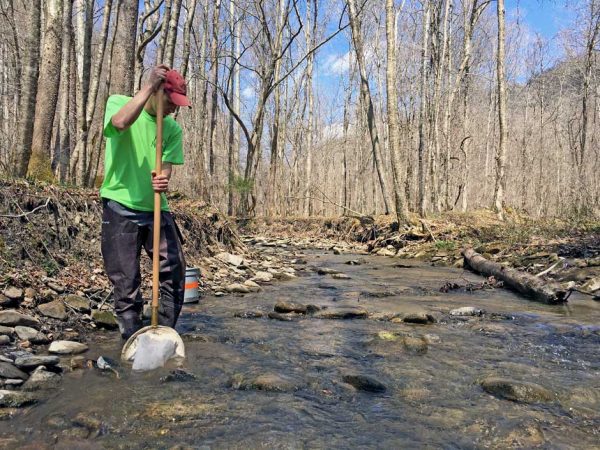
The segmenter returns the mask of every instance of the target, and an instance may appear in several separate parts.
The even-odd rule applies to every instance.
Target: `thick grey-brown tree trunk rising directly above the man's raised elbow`
[[[110,92],[132,95],[134,85],[135,40],[137,37],[138,2],[120,0],[113,47]]]

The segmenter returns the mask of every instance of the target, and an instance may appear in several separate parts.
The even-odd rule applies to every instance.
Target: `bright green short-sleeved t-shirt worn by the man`
[[[152,170],[156,167],[156,117],[145,110],[125,131],[119,132],[112,124],[112,116],[131,97],[111,95],[104,113],[104,181],[100,196],[139,211],[154,209]],[[163,121],[163,162],[183,164],[181,127],[167,116]],[[161,209],[168,211],[167,198],[161,195]]]

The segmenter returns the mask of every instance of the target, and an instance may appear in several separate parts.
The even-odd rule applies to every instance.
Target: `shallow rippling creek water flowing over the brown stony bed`
[[[0,444],[63,448],[600,448],[600,308],[524,300],[503,289],[440,293],[445,281],[479,283],[460,269],[393,258],[310,253],[301,275],[244,296],[186,305],[178,331],[196,381],[162,383],[168,370],[121,379],[96,369],[65,374],[41,404],[0,422]],[[320,276],[330,267],[351,279]],[[333,289],[335,288],[335,289]],[[371,319],[291,322],[234,317],[278,301],[369,313],[427,311],[430,325]],[[461,306],[483,317],[456,318]],[[425,336],[426,352],[386,341],[388,331]],[[100,333],[86,357],[118,358],[116,333]],[[286,392],[236,389],[276,374]],[[344,375],[368,375],[384,393],[356,391]],[[550,403],[491,396],[479,381],[538,383]],[[232,381],[233,380],[233,381]],[[236,382],[237,380],[237,382]],[[248,383],[246,383],[248,384]]]

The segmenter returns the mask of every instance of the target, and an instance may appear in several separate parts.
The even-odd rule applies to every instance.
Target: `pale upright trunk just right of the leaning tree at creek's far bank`
[[[387,112],[388,112],[388,134],[389,149],[391,153],[392,173],[394,176],[394,198],[396,200],[396,218],[399,225],[408,222],[408,208],[402,189],[402,169],[400,167],[400,127],[398,115],[398,96],[396,88],[396,29],[394,0],[386,0],[386,39],[387,39],[387,67],[386,67],[386,89],[387,89]]]

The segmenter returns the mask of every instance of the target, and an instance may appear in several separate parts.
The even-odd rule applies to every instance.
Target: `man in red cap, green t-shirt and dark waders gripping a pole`
[[[163,85],[164,122],[162,172],[155,173],[156,92]],[[165,65],[154,67],[134,97],[112,95],[106,104],[106,155],[103,203],[102,256],[114,287],[115,312],[121,336],[128,339],[142,327],[140,292],[142,247],[152,258],[154,192],[161,193],[159,324],[174,327],[183,305],[185,260],[179,230],[169,212],[164,192],[172,166],[183,164],[181,127],[169,114],[191,106],[183,77]]]

